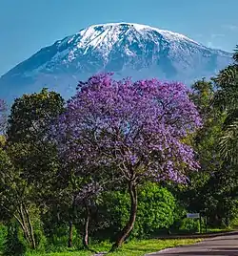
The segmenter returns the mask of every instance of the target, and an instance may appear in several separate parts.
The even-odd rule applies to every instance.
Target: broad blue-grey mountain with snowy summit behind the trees
[[[94,25],[42,48],[2,75],[0,98],[12,102],[43,87],[67,98],[78,80],[98,72],[179,80],[189,86],[230,62],[231,53],[209,49],[177,32],[130,23]]]

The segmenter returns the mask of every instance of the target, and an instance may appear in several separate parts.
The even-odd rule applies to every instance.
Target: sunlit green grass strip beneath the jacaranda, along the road
[[[143,256],[149,252],[159,251],[165,248],[174,247],[178,245],[191,245],[200,242],[201,239],[176,239],[176,240],[142,240],[133,241],[123,245],[121,249],[116,252],[109,253],[109,256]],[[101,243],[94,245],[93,248],[97,251],[109,251],[109,243]],[[30,253],[27,256],[91,256],[93,253],[88,251],[66,251],[53,253]]]

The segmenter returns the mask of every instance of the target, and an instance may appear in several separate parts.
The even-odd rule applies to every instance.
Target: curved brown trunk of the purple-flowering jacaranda
[[[112,245],[110,252],[116,250],[121,245],[123,245],[124,241],[129,236],[129,233],[132,230],[135,223],[136,212],[137,212],[137,192],[136,192],[136,186],[132,182],[129,182],[129,197],[130,197],[129,222],[120,232],[116,242]]]

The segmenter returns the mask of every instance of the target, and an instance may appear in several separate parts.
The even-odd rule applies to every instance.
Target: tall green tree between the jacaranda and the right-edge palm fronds
[[[197,152],[200,171],[189,175],[189,185],[179,185],[176,195],[188,211],[206,210],[210,223],[221,220],[220,216],[228,215],[228,208],[222,202],[231,200],[228,191],[231,183],[224,182],[228,178],[228,164],[220,158],[219,139],[222,136],[222,125],[226,114],[211,104],[215,85],[205,79],[195,82],[192,86],[191,99],[203,118],[204,125],[195,136],[189,138],[190,144]],[[225,176],[226,173],[226,176]]]

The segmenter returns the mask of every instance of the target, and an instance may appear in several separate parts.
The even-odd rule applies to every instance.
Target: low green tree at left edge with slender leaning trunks
[[[16,169],[7,151],[0,148],[0,212],[1,221],[14,218],[20,224],[24,237],[31,248],[35,239],[30,221],[29,206],[32,186],[22,179],[22,169]]]

